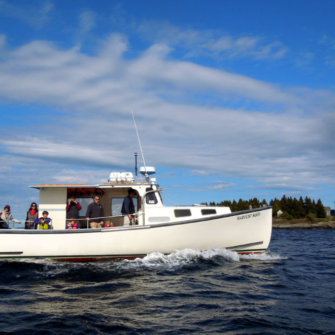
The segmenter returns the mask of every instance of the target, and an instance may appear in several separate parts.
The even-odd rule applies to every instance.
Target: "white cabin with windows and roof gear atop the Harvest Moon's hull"
[[[76,221],[80,223],[81,228],[87,228],[86,210],[88,205],[93,202],[94,195],[100,196],[100,203],[105,212],[104,221],[109,220],[113,227],[123,226],[121,208],[129,188],[133,188],[137,192],[132,200],[135,205],[138,225],[171,223],[231,213],[228,207],[165,206],[162,190],[159,189],[156,178],[149,180],[148,175],[153,173],[152,171],[147,172],[145,179],[137,181],[131,172],[112,172],[108,182],[103,184],[39,184],[29,187],[40,190],[39,211],[41,213],[43,211],[49,212],[54,229],[65,229],[66,205],[72,196],[82,207],[79,212],[80,217]]]

